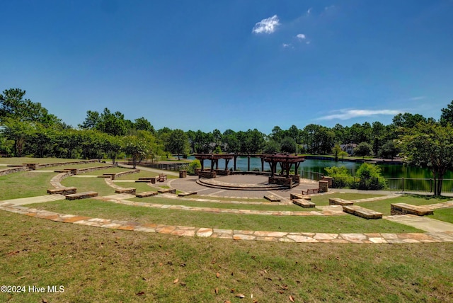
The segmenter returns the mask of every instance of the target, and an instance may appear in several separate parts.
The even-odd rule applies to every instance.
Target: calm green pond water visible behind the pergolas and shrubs
[[[188,159],[195,159],[194,156],[189,156]],[[360,163],[348,162],[348,161],[328,161],[328,160],[305,160],[300,164],[300,171],[314,171],[316,173],[326,173],[324,168],[331,166],[345,166],[348,168],[352,176],[355,176],[355,171],[360,167]],[[205,160],[205,167],[210,167],[211,161]],[[234,161],[230,160],[228,164],[228,169],[233,168]],[[414,166],[403,166],[403,165],[379,165],[382,169],[382,176],[386,178],[432,178],[432,173],[425,168],[419,168]],[[225,168],[225,161],[219,160],[219,169]],[[236,168],[241,171],[247,170],[247,157],[238,157],[236,161]],[[250,169],[253,168],[261,169],[261,159],[260,158],[250,158]],[[264,164],[265,170],[270,170],[270,167],[267,163]],[[444,178],[453,178],[453,173],[448,171]]]

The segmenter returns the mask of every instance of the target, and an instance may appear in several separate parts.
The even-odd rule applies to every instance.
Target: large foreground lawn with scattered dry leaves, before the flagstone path
[[[1,212],[0,226],[1,285],[64,287],[62,293],[0,293],[0,302],[452,301],[449,243],[231,241],[9,212]]]

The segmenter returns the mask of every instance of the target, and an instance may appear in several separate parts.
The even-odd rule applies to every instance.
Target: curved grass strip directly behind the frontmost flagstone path
[[[384,219],[367,220],[355,216],[270,216],[235,215],[185,210],[168,210],[132,205],[121,205],[99,200],[79,200],[73,203],[55,201],[34,204],[33,207],[53,212],[88,217],[103,217],[156,223],[183,225],[189,227],[210,227],[217,229],[245,229],[261,231],[294,231],[325,233],[401,233],[421,232],[413,227],[390,222]]]

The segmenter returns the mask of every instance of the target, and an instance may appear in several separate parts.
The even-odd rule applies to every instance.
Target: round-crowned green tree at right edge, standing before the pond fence
[[[453,168],[453,126],[419,122],[402,137],[401,148],[408,164],[430,168],[434,195],[441,195],[445,172]]]

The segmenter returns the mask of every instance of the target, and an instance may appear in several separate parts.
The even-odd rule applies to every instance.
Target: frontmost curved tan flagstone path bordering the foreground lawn
[[[243,241],[275,241],[298,243],[344,243],[344,244],[394,244],[394,243],[433,243],[453,242],[453,231],[433,231],[428,233],[366,233],[366,234],[328,234],[303,233],[282,231],[244,231],[234,229],[212,229],[209,227],[184,227],[177,225],[163,225],[139,223],[113,219],[92,218],[86,216],[60,214],[32,207],[23,207],[14,202],[0,202],[0,210],[28,215],[40,219],[49,219],[55,222],[80,224],[91,227],[121,229],[128,231],[142,231],[176,236],[200,236],[218,239],[233,239]],[[395,216],[393,216],[395,217]],[[453,225],[453,224],[452,224]]]

